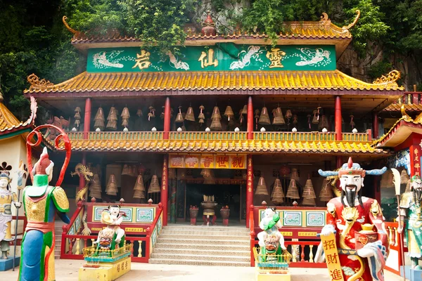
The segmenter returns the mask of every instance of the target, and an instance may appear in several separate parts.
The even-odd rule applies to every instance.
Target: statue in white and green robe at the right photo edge
[[[421,200],[422,200],[422,181],[420,176],[411,177],[411,191],[404,192],[400,196],[399,219],[402,221],[401,227],[397,230],[403,231],[404,220],[406,223],[407,248],[411,259],[411,268],[421,270],[418,266],[418,259],[421,258],[422,249],[422,218],[421,218]]]

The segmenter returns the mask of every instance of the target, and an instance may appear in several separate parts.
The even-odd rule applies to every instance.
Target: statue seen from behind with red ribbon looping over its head
[[[32,169],[32,147],[41,144],[43,136],[40,129],[51,128],[60,132],[54,141],[56,149],[65,150],[65,162],[60,171],[56,186],[49,185],[53,177],[54,163],[49,159],[47,148],[44,148],[38,162]],[[34,138],[34,136],[36,136]],[[32,143],[33,139],[36,140]],[[64,149],[60,148],[60,141]],[[70,223],[66,215],[69,201],[60,184],[65,176],[70,160],[70,141],[68,135],[52,125],[41,125],[27,136],[27,164],[32,178],[32,186],[23,191],[23,207],[27,217],[27,226],[23,235],[19,279],[21,281],[56,280],[54,274],[54,218],[56,214],[65,223]]]

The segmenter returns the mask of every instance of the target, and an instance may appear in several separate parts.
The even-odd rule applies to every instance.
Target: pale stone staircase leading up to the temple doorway
[[[245,226],[165,226],[150,263],[194,266],[250,266]]]

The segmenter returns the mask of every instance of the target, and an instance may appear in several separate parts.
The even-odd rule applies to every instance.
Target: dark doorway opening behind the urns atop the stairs
[[[189,208],[191,206],[198,206],[198,218],[203,214],[203,208],[200,203],[203,202],[203,195],[214,195],[214,200],[217,202],[215,215],[217,221],[221,221],[219,210],[223,206],[229,206],[230,219],[240,221],[241,212],[241,186],[240,185],[208,185],[208,184],[188,184],[186,186],[186,218],[189,218]],[[245,204],[245,202],[242,202]]]

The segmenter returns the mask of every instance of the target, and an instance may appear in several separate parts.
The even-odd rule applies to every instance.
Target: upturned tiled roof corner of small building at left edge
[[[31,98],[31,116],[27,119],[27,121],[20,122],[18,118],[16,118],[15,115],[8,110],[4,103],[0,103],[0,135],[29,128],[34,124],[36,112],[37,102],[34,98]]]

